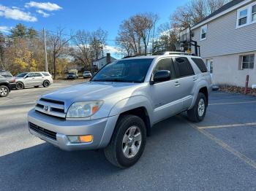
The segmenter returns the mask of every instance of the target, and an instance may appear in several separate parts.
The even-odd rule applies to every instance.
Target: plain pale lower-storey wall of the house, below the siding
[[[254,69],[239,69],[241,55],[255,54]],[[249,75],[249,87],[256,84],[256,51],[244,52],[232,55],[220,55],[204,58],[213,59],[212,82],[215,85],[234,85],[244,87],[246,75]]]

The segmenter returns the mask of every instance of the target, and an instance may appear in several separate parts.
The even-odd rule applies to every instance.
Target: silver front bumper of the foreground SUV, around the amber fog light
[[[56,139],[45,136],[33,128],[29,132],[40,139],[64,150],[77,149],[99,149],[108,145],[116,125],[118,115],[113,117],[105,117],[99,120],[60,120],[56,117],[50,117],[41,114],[32,109],[28,114],[29,124],[37,125],[39,128],[50,130],[56,133]],[[72,143],[68,136],[92,135],[93,141],[89,143]]]

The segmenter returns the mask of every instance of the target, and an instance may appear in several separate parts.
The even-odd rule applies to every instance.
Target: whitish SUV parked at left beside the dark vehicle
[[[37,71],[37,72],[23,72],[15,77],[16,87],[21,90],[26,87],[49,87],[53,84],[53,78],[49,72]]]

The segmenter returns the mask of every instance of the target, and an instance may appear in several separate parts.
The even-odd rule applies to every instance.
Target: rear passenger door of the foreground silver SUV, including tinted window
[[[180,87],[179,97],[183,101],[183,109],[185,110],[192,104],[197,76],[186,57],[173,58],[173,62],[177,74],[176,85]]]

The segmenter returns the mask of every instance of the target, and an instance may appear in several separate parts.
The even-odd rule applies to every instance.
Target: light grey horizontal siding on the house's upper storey
[[[236,28],[236,14],[234,10],[207,23],[207,36],[202,41],[200,27],[192,30],[202,58],[256,50],[256,23]]]

